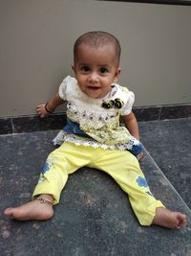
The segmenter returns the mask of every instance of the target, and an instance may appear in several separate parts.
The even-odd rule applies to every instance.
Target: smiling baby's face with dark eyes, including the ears
[[[79,45],[73,69],[81,91],[94,99],[104,97],[120,73],[114,45]]]

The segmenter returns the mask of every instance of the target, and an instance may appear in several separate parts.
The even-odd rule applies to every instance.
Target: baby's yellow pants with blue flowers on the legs
[[[128,194],[140,224],[150,225],[155,217],[156,208],[164,207],[152,196],[138,160],[131,152],[75,146],[69,142],[63,143],[50,153],[33,197],[51,194],[54,204],[58,203],[68,175],[83,166],[104,171],[117,181]]]

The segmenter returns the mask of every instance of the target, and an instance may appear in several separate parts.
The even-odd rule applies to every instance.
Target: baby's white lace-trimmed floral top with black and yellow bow
[[[95,148],[129,149],[128,142],[132,136],[127,128],[119,126],[119,116],[131,113],[135,101],[133,92],[114,83],[104,98],[93,99],[80,90],[74,78],[68,76],[60,84],[59,96],[68,103],[67,117],[91,138],[82,138],[61,130],[54,138],[54,144],[70,141]],[[117,101],[119,105],[115,105]]]

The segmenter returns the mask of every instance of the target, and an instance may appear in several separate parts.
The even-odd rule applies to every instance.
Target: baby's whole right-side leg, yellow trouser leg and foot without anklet
[[[95,167],[112,175],[128,194],[140,224],[158,224],[169,228],[179,228],[185,224],[184,214],[165,209],[163,204],[154,198],[140,170],[138,159],[132,153],[104,151],[96,155],[99,158]]]

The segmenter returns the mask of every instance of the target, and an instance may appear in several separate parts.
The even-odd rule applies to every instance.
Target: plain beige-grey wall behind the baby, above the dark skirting
[[[73,75],[78,35],[122,46],[119,82],[136,104],[191,102],[191,7],[94,0],[0,0],[0,117],[34,114]]]

